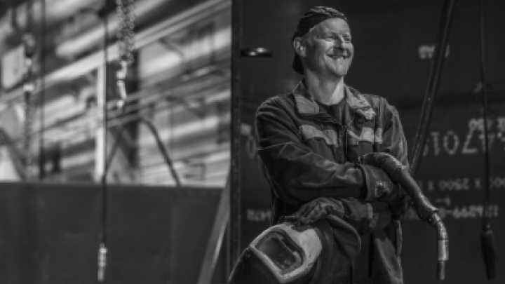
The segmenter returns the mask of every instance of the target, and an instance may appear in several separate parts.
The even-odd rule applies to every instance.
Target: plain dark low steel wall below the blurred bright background
[[[108,189],[106,283],[196,283],[222,190]],[[100,190],[1,183],[0,283],[96,283]]]

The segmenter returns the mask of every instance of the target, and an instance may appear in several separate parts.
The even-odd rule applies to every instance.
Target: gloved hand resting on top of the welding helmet
[[[332,198],[321,197],[305,203],[293,215],[285,216],[284,220],[301,226],[316,222],[329,215],[342,218],[344,212],[341,203],[333,201]]]

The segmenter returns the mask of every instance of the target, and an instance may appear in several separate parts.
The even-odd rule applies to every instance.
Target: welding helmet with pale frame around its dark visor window
[[[325,255],[332,252],[328,222],[271,226],[242,252],[230,284],[315,283]]]

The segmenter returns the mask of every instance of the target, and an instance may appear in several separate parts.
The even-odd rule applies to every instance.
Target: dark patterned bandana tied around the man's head
[[[297,29],[291,38],[291,42],[293,39],[299,36],[304,36],[310,32],[311,29],[316,27],[316,25],[318,25],[320,22],[323,22],[324,20],[328,20],[330,18],[341,18],[347,22],[346,16],[334,8],[322,6],[311,8],[309,11],[302,15],[302,18],[299,19]],[[296,53],[295,59],[292,62],[292,69],[294,69],[298,74],[304,74],[302,61],[299,59]]]

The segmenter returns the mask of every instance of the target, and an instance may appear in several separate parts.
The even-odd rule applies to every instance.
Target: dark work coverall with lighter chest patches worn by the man
[[[337,251],[332,283],[403,283],[400,222],[375,201],[389,177],[356,158],[386,152],[404,165],[407,144],[398,112],[382,97],[344,87],[343,116],[325,112],[301,81],[291,93],[266,100],[257,110],[258,154],[271,185],[277,224],[301,205],[330,197],[344,209],[332,224]],[[380,220],[377,221],[377,220]]]

